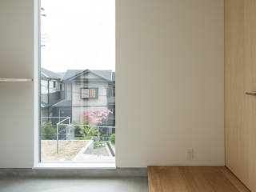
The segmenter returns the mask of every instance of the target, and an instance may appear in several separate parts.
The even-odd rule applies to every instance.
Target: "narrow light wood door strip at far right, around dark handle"
[[[256,90],[256,0],[245,1],[246,88]],[[249,186],[256,191],[256,96],[246,96],[249,118]]]

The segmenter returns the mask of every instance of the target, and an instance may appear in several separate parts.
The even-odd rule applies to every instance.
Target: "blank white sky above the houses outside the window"
[[[41,0],[41,66],[115,70],[115,0]]]

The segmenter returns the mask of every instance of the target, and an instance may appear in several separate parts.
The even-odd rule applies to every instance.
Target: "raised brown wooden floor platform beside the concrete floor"
[[[150,192],[249,192],[224,166],[148,166]]]

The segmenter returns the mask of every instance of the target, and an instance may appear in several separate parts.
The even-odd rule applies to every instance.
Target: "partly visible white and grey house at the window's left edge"
[[[51,107],[64,98],[64,87],[61,82],[62,75],[50,70],[41,69],[41,117],[53,116]],[[42,118],[42,122],[49,118]]]

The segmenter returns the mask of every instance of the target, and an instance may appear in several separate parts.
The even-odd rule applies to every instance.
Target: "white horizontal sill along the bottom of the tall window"
[[[68,163],[41,162],[33,167],[34,170],[105,170],[116,169],[114,162],[99,163]]]

